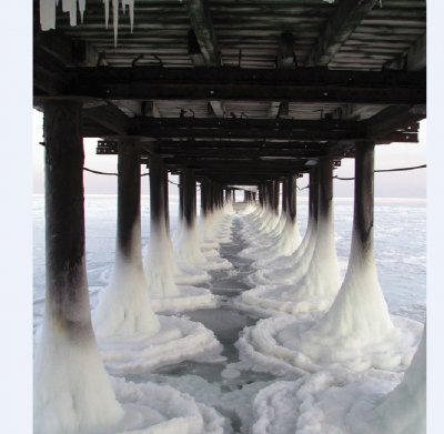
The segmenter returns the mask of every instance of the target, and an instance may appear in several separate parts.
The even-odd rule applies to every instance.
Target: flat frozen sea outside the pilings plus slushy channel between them
[[[149,196],[142,195],[142,243],[150,236]],[[199,206],[198,206],[199,208]],[[179,198],[170,196],[171,233],[178,228]],[[351,244],[353,199],[336,198],[334,201],[336,250],[342,275],[345,273]],[[307,219],[307,200],[300,198],[297,220],[304,234]],[[85,195],[87,268],[94,305],[98,287],[107,284],[110,275],[115,243],[117,196]],[[236,236],[240,224],[233,224],[233,245],[222,245],[221,255],[235,261],[242,250]],[[392,313],[425,322],[426,282],[426,206],[421,199],[376,199],[375,201],[375,252],[381,286]],[[40,323],[44,297],[44,198],[33,198],[33,294],[34,326]],[[212,281],[205,286],[225,301],[246,289],[241,282],[249,273],[248,263],[238,263],[236,272],[213,272]],[[238,276],[236,276],[238,273]],[[233,293],[226,289],[236,289]],[[223,290],[223,291],[222,291]],[[195,401],[216,408],[230,418],[234,432],[248,433],[252,424],[252,400],[258,392],[276,381],[271,374],[239,372],[225,369],[228,363],[238,361],[234,342],[245,325],[253,325],[255,319],[222,304],[216,313],[201,310],[186,313],[193,321],[201,321],[214,331],[224,345],[226,362],[204,364],[184,362],[165,366],[157,373],[127,376],[137,383],[151,381],[169,384],[189,393]]]

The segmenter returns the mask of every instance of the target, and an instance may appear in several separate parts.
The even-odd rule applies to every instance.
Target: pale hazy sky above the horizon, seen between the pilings
[[[42,113],[33,110],[33,192],[43,193],[43,151],[39,144],[42,141]],[[85,168],[102,172],[117,172],[117,155],[95,155],[98,139],[84,140],[84,165]],[[390,145],[376,147],[376,169],[392,169],[424,164],[425,161],[425,121],[421,123],[420,143],[392,143]],[[142,171],[144,166],[142,166]],[[84,191],[91,193],[115,193],[117,176],[84,173]],[[342,166],[335,170],[339,176],[347,178],[354,174],[354,160],[342,160]],[[376,198],[425,198],[426,170],[414,170],[407,172],[376,173],[375,195]],[[307,176],[299,180],[300,186],[307,184]],[[170,185],[171,194],[176,193],[176,188]],[[142,178],[142,193],[149,193],[149,180]],[[306,191],[301,192],[306,195]],[[353,181],[334,181],[334,194],[341,198],[353,196]]]

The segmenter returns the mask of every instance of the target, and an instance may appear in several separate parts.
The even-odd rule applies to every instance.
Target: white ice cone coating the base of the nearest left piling
[[[109,432],[123,411],[97,347],[88,296],[72,309],[72,321],[59,317],[48,300],[34,357],[34,433]]]

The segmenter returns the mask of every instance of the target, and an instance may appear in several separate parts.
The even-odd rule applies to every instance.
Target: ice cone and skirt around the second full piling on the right
[[[263,226],[262,219],[256,220],[258,229]],[[258,271],[246,277],[254,287],[241,294],[240,309],[260,316],[327,310],[340,287],[332,209],[317,221],[309,221],[306,234],[292,254],[273,255],[273,250],[265,249],[255,258]]]

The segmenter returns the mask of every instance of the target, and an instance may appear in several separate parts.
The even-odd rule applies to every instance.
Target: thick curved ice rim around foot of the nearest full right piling
[[[383,339],[362,345],[356,340],[323,340],[313,319],[282,314],[245,327],[236,342],[240,359],[253,371],[274,375],[314,373],[343,367],[402,371],[411,363],[423,325],[392,316],[393,331]]]

